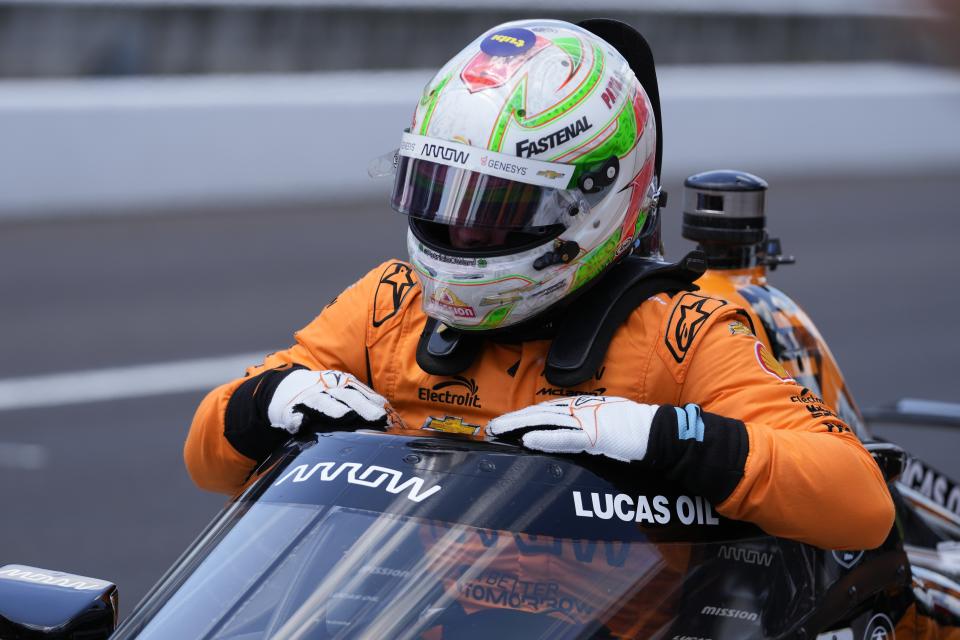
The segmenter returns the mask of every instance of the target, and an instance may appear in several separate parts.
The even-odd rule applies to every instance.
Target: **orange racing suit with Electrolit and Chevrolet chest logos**
[[[616,331],[594,378],[569,389],[543,376],[548,340],[488,340],[460,375],[425,373],[414,357],[426,322],[421,295],[410,265],[385,262],[297,332],[292,347],[211,391],[184,450],[194,482],[220,492],[244,484],[254,458],[269,451],[238,451],[243,439],[229,437],[233,427],[226,424],[231,397],[259,374],[299,365],[349,372],[386,397],[410,427],[446,431],[478,432],[495,416],[557,396],[696,403],[730,419],[720,425],[740,425],[745,433],[741,468],[731,490],[715,498],[717,512],[824,548],[873,548],[886,538],[893,503],[877,465],[822,400],[789,377],[741,322],[739,307],[690,292],[654,296]],[[717,466],[703,458],[684,464],[707,482]]]

